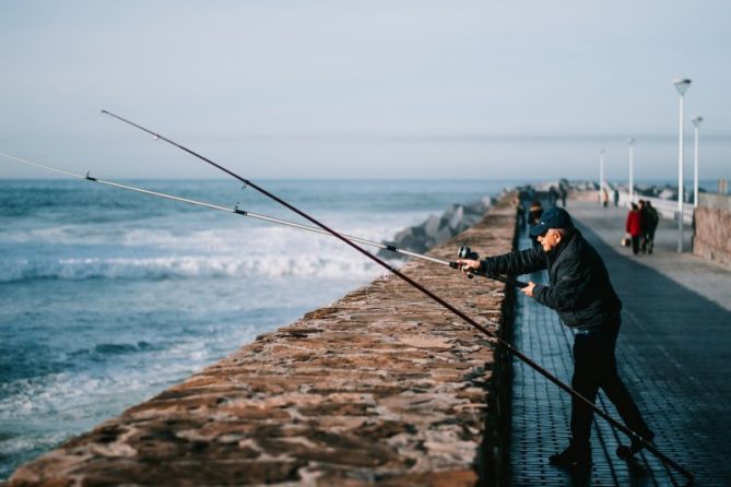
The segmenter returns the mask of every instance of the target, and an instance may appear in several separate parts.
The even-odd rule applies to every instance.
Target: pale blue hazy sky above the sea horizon
[[[221,177],[107,108],[249,178],[597,178],[604,147],[626,179],[632,135],[637,177],[673,179],[687,76],[701,177],[731,177],[729,19],[729,1],[0,0],[0,151]]]

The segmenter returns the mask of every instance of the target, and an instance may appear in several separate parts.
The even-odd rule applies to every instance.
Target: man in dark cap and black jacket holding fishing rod
[[[616,406],[625,425],[646,441],[655,433],[649,429],[617,373],[614,347],[620,332],[622,302],[617,297],[604,262],[597,250],[574,227],[566,210],[551,209],[531,229],[541,249],[527,249],[488,257],[483,260],[459,260],[464,272],[518,275],[549,271],[550,284],[530,282],[522,292],[554,309],[563,323],[577,331],[574,342],[575,391],[593,403],[601,388]],[[550,456],[557,466],[586,472],[591,465],[591,421],[593,411],[571,396],[571,440],[563,452]],[[642,442],[633,439],[634,454]]]

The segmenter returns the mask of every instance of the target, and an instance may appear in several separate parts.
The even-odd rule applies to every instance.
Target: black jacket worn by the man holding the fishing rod
[[[602,325],[622,309],[604,262],[576,229],[551,252],[531,248],[483,259],[486,274],[527,274],[549,270],[551,285],[537,284],[533,297],[555,309],[569,326]]]

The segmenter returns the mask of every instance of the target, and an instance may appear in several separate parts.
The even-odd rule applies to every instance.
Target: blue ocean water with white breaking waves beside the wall
[[[126,182],[303,222],[235,181]],[[516,182],[260,183],[382,240]],[[87,181],[0,180],[0,479],[382,274],[327,236]]]

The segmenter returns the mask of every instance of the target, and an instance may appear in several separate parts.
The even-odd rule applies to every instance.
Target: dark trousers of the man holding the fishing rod
[[[616,313],[603,326],[576,334],[571,387],[591,403],[596,401],[601,388],[625,425],[645,436],[649,428],[616,370],[614,345],[620,332],[620,314]],[[593,411],[571,396],[571,442],[576,447],[589,448],[592,417]]]

